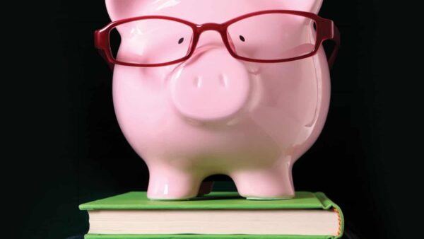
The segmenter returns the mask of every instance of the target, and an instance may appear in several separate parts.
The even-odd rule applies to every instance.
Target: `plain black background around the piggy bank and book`
[[[146,190],[148,170],[114,117],[112,73],[93,48],[104,1],[7,3],[1,34],[4,211],[11,238],[88,230],[78,204]],[[325,192],[360,238],[412,238],[423,187],[423,30],[399,1],[324,1],[341,30],[329,118],[295,164],[296,190]],[[413,58],[416,57],[416,58]],[[218,177],[220,180],[226,178]],[[231,190],[220,182],[215,190]],[[418,236],[419,238],[419,236]]]

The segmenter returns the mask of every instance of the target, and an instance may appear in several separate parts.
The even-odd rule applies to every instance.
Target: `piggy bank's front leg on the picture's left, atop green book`
[[[204,177],[179,168],[149,168],[147,197],[153,200],[184,200],[196,197]]]

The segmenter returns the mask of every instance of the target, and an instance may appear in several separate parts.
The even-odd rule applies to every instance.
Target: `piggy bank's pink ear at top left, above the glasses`
[[[140,16],[146,0],[106,0],[107,13],[112,21]]]

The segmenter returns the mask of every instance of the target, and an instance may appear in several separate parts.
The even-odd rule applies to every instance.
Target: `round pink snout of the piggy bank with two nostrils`
[[[171,80],[172,103],[184,117],[201,122],[230,119],[247,105],[249,71],[225,48],[198,49]]]

